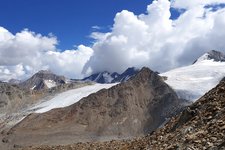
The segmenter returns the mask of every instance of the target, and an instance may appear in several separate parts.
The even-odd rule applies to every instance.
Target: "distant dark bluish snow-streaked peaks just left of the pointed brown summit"
[[[82,79],[83,81],[94,81],[97,83],[116,83],[116,82],[125,82],[130,79],[132,76],[135,76],[139,72],[139,69],[134,67],[128,68],[122,74],[117,72],[109,73],[107,71],[93,74],[89,77]]]

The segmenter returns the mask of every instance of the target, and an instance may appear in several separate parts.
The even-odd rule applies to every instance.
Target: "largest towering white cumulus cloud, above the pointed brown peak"
[[[94,33],[94,53],[84,72],[122,72],[130,66],[163,72],[191,64],[209,50],[224,51],[225,9],[206,7],[221,3],[225,1],[155,0],[145,14],[117,13],[110,33]],[[171,7],[185,11],[172,20]]]

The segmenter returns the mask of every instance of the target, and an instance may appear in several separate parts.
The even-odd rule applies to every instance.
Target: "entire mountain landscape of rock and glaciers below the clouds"
[[[39,71],[23,82],[16,79],[0,82],[0,149],[29,149],[30,145],[36,149],[39,145],[77,142],[85,143],[80,148],[73,145],[75,149],[87,149],[90,145],[86,142],[94,141],[97,142],[94,146],[131,146],[125,149],[135,144],[138,148],[187,148],[188,138],[183,132],[189,121],[192,125],[196,124],[193,120],[199,120],[196,111],[203,118],[205,115],[206,121],[201,120],[202,126],[196,125],[190,132],[188,129],[187,135],[191,137],[197,136],[194,131],[202,132],[203,128],[208,132],[209,127],[204,126],[208,116],[211,116],[208,121],[223,123],[224,58],[223,53],[212,50],[191,65],[161,74],[145,67],[128,68],[121,74],[104,71],[72,80]],[[221,114],[211,106],[221,110]],[[223,129],[217,131],[223,133]],[[209,135],[222,137],[222,134]],[[117,141],[127,138],[130,140]],[[175,145],[168,141],[171,138]],[[102,143],[112,139],[116,141]],[[223,147],[223,140],[210,139],[205,147],[210,148],[208,143],[216,145],[216,142]],[[193,141],[187,143],[202,149],[202,141],[197,146],[192,145]]]

